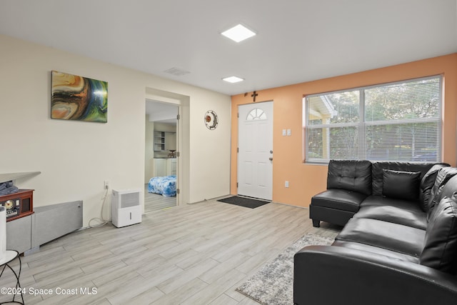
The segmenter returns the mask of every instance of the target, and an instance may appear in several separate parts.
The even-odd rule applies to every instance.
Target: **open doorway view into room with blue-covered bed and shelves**
[[[144,212],[177,205],[179,106],[146,99]]]

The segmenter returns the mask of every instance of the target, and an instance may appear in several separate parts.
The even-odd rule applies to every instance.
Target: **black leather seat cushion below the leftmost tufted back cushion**
[[[366,195],[344,189],[328,189],[311,198],[311,205],[356,212]]]

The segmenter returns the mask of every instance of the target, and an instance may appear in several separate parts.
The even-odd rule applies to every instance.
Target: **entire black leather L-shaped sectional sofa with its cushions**
[[[330,161],[313,225],[343,227],[294,256],[295,304],[457,304],[457,169]]]

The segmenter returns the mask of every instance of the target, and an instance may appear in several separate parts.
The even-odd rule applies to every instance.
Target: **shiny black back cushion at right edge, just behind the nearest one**
[[[457,175],[457,169],[455,167],[443,167],[438,170],[436,174],[435,183],[433,184],[430,191],[430,200],[428,201],[427,209],[427,220],[430,220],[431,212],[438,202],[443,199],[444,196],[452,196],[456,184],[448,184],[453,176]],[[443,192],[444,189],[447,189],[446,192]]]

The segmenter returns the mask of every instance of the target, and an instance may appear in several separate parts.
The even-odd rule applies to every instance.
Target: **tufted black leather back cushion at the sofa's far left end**
[[[367,160],[330,160],[327,189],[346,189],[371,195],[371,162]]]

